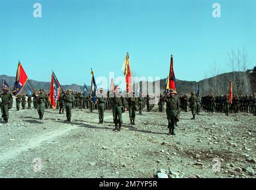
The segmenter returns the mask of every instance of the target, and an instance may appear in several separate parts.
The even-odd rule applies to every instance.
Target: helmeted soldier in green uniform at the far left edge
[[[2,112],[2,119],[4,119],[4,123],[8,123],[9,118],[9,109],[13,107],[13,96],[9,93],[9,89],[5,87],[0,94],[0,107]]]

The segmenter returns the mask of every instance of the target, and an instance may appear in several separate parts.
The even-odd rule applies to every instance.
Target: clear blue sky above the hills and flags
[[[33,4],[42,18],[33,17]],[[212,4],[221,18],[212,17]],[[245,47],[256,65],[256,1],[208,0],[0,0],[0,74],[16,75],[18,60],[29,78],[90,84],[122,75],[129,52],[139,77],[165,78],[170,55],[180,80],[201,80],[215,61],[221,72],[227,53]]]

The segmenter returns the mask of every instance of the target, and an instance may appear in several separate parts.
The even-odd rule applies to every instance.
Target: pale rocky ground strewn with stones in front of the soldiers
[[[10,110],[0,123],[1,178],[255,178],[256,117],[181,113],[175,136],[165,113],[143,112],[136,125],[123,115],[121,132],[112,112],[97,124],[97,110],[73,110],[72,124],[56,110],[39,121],[34,109]],[[214,158],[220,159],[215,163]],[[214,166],[220,164],[220,170]]]

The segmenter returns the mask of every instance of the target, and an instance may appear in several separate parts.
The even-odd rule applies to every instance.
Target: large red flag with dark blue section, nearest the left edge
[[[20,94],[21,90],[23,89],[24,85],[26,84],[28,78],[27,78],[27,74],[24,71],[22,65],[20,62],[18,62],[18,68],[17,68],[17,72],[16,72],[16,81],[13,87],[13,95],[17,96],[18,94]]]

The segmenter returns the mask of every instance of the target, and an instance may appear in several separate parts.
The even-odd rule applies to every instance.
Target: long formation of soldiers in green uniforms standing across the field
[[[45,93],[43,89],[39,89],[38,92],[32,94],[21,94],[15,97],[16,109],[20,110],[20,104],[22,109],[31,109],[32,103],[34,109],[38,111],[39,119],[44,118],[44,110],[50,109],[49,94]],[[150,112],[154,104],[150,104],[150,100],[154,100],[154,96],[143,96],[140,93],[139,97],[135,97],[135,93],[123,94],[120,93],[120,87],[115,86],[113,91],[107,91],[104,93],[103,88],[100,88],[100,93],[97,94],[97,101],[94,103],[92,97],[85,96],[81,92],[73,92],[72,90],[62,91],[57,101],[56,109],[58,113],[63,114],[66,112],[66,121],[71,122],[72,109],[89,109],[90,112],[98,109],[98,124],[104,122],[104,111],[112,110],[113,123],[115,128],[113,131],[121,131],[123,119],[122,113],[129,112],[130,125],[135,125],[136,113],[142,115],[143,110],[146,109]],[[233,95],[232,103],[230,102],[229,95],[214,96],[209,94],[208,96],[200,96],[199,94],[191,92],[190,96],[184,94],[183,96],[177,96],[175,90],[165,90],[163,94],[158,96],[158,110],[159,112],[166,111],[168,120],[168,135],[175,135],[175,127],[177,122],[180,121],[181,110],[188,112],[189,109],[192,112],[192,120],[196,119],[196,115],[199,115],[203,109],[206,112],[220,112],[229,115],[229,113],[252,113],[256,116],[256,93],[250,96],[238,96]],[[2,112],[2,119],[4,123],[8,122],[9,109],[13,107],[13,96],[9,92],[8,88],[4,88],[0,93],[0,106]]]

